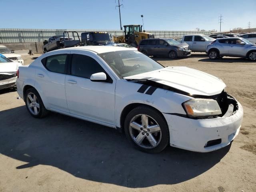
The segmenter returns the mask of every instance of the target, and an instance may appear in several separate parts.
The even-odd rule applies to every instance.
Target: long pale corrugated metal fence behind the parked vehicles
[[[0,43],[24,43],[24,42],[43,42],[54,35],[62,35],[64,31],[77,31],[81,37],[82,32],[100,31],[108,32],[112,36],[123,35],[121,30],[102,30],[102,29],[14,29],[0,28]],[[185,34],[210,34],[210,31],[159,31],[149,30],[155,38],[178,38]]]

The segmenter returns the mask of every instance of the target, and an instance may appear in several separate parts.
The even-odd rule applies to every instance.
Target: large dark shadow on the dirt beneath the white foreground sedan
[[[134,149],[112,128],[50,113],[36,119],[25,106],[0,112],[0,153],[19,170],[50,165],[78,178],[144,188],[190,180],[216,165],[230,146],[210,153],[167,147],[159,154]]]

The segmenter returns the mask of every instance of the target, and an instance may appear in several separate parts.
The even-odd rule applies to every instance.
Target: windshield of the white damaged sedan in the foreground
[[[108,52],[99,54],[99,56],[122,78],[164,68],[138,51]]]

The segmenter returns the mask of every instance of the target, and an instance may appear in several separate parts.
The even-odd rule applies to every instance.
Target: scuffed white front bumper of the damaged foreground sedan
[[[222,117],[205,119],[191,119],[174,114],[163,115],[169,126],[170,146],[195,152],[210,152],[229,145],[238,135],[243,119],[243,108],[236,101],[235,108],[230,104]]]

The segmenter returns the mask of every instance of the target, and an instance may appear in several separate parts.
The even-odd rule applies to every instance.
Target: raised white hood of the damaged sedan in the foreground
[[[167,67],[125,77],[126,80],[151,80],[192,95],[212,96],[222,92],[224,82],[210,74],[188,67]]]

